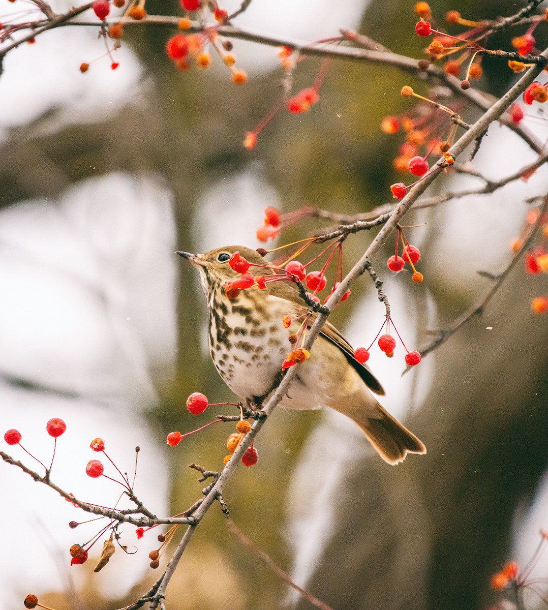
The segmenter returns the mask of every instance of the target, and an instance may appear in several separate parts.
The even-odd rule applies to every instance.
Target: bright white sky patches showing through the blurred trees
[[[15,4],[0,0],[2,19],[23,3],[24,0]],[[70,4],[52,2],[59,11]],[[222,7],[231,10],[238,5],[239,1],[230,0]],[[336,34],[339,27],[357,27],[364,5],[355,0],[336,4],[327,0],[253,0],[237,24],[267,34],[317,40]],[[235,41],[235,48],[239,65],[251,77],[277,65],[275,49],[242,41]],[[124,104],[140,103],[151,83],[126,43],[115,54],[115,60],[120,62],[117,70],[110,70],[110,61],[104,58],[93,63],[87,74],[79,73],[81,62],[103,53],[104,43],[97,39],[96,31],[68,27],[39,37],[35,45],[23,45],[11,52],[0,77],[0,137],[2,132],[6,137],[9,127],[24,125],[52,109],[58,121],[88,122],[103,120]],[[538,123],[532,125],[538,131]],[[512,138],[510,146],[505,138]],[[508,155],[510,149],[513,156]],[[498,178],[511,173],[516,163],[524,165],[532,158],[527,147],[513,135],[493,129],[482,145],[477,165]],[[490,203],[486,198],[470,198],[446,206],[445,229],[435,247],[447,257],[440,260],[438,270],[431,272],[439,277],[450,276],[453,282],[461,278],[464,287],[477,268],[496,270],[508,256],[507,243],[514,237],[516,222],[523,217],[524,207],[519,202],[527,193],[539,192],[543,181],[546,184],[546,171],[539,171],[527,184],[508,185]],[[476,181],[470,179],[470,183]],[[283,207],[277,193],[265,184],[261,168],[253,163],[240,176],[219,181],[204,193],[201,216],[195,219],[196,228],[203,227],[203,249],[223,245],[223,235],[231,235],[230,241],[253,245],[250,235],[258,225],[256,219],[269,204]],[[171,194],[154,176],[110,174],[74,185],[60,201],[28,201],[0,212],[0,285],[4,287],[0,301],[4,347],[0,351],[0,375],[20,376],[77,395],[59,397],[14,389],[0,382],[0,421],[5,429],[21,429],[23,443],[48,461],[52,443],[45,433],[45,422],[50,417],[65,418],[68,431],[59,442],[55,478],[74,493],[81,492],[83,498],[97,502],[101,501],[99,488],[105,494],[105,503],[112,501],[112,489],[107,481],[95,481],[82,474],[88,459],[95,457],[87,449],[89,441],[96,436],[106,437],[107,449],[112,447],[118,464],[130,472],[133,449],[140,445],[136,489],[143,500],[150,499],[159,513],[167,510],[169,490],[167,468],[162,467],[165,446],[157,431],[148,428],[143,414],[156,400],[152,363],[161,362],[168,374],[176,350],[179,261],[173,250],[179,245],[171,206]],[[234,214],[234,206],[247,210],[243,220]],[[496,226],[491,228],[494,209],[499,213]],[[470,227],[466,219],[472,210],[479,220]],[[491,233],[486,232],[486,226]],[[220,227],[222,234],[215,233]],[[500,240],[500,247],[485,247],[494,237]],[[477,253],[474,260],[465,260],[464,254],[469,251]],[[397,295],[396,282],[389,283],[394,284],[391,290]],[[467,287],[470,289],[469,283]],[[347,329],[349,339],[356,345],[364,342],[362,337],[377,332],[377,324],[370,323],[371,317],[367,318],[366,313],[373,306],[380,305],[372,298],[356,312]],[[400,332],[414,337],[413,320],[405,314],[403,295],[394,297],[392,307],[398,311],[398,320],[402,320]],[[413,344],[413,339],[410,342]],[[391,386],[383,404],[398,417],[405,417],[402,405],[412,402],[411,376],[394,387],[389,381],[399,375],[399,369],[394,373],[394,360],[373,354],[371,364],[381,382]],[[424,378],[419,393],[424,393],[430,382],[427,361],[421,367]],[[327,462],[337,472],[343,467],[339,461],[355,459],[348,434],[358,439],[353,425],[347,426],[344,418],[337,414],[326,414],[326,418],[326,425],[312,437],[305,452],[315,464],[313,470],[322,473],[327,472]],[[334,428],[331,418],[338,420]],[[342,447],[351,450],[330,456],[326,443],[318,442],[317,436],[325,434],[327,426],[330,435],[340,434],[344,439]],[[327,446],[337,444],[331,442]],[[13,450],[13,454],[20,458],[17,451]],[[357,445],[356,451],[361,451]],[[24,461],[29,463],[27,458]],[[305,462],[303,468],[307,466]],[[67,573],[60,569],[56,558],[58,553],[64,553],[66,566],[66,549],[75,539],[80,540],[66,526],[68,520],[78,519],[74,516],[78,511],[54,497],[51,490],[38,489],[26,481],[14,468],[0,465],[0,485],[4,490],[16,489],[0,506],[2,523],[9,523],[2,534],[2,546],[10,549],[0,558],[0,601],[5,608],[12,608],[20,606],[22,593],[33,590],[39,595],[41,590],[67,586]],[[325,489],[336,495],[334,478],[333,486]],[[548,494],[546,490],[545,493]],[[306,514],[306,498],[303,499],[305,503],[295,508],[295,516],[306,516],[307,526],[297,528],[294,536],[303,553],[297,558],[296,569],[302,581],[321,551],[328,514],[327,503],[323,504],[323,514],[319,511],[314,516],[313,506],[311,514]],[[542,502],[541,506],[546,507],[546,500]],[[524,540],[536,545],[538,539],[532,533],[548,525],[538,522],[538,515],[542,515],[538,506],[530,515],[527,531],[521,530],[517,537],[522,546]],[[302,525],[303,521],[298,523]],[[132,533],[133,528],[127,529]],[[40,565],[40,570],[29,566],[28,548],[21,544],[29,539],[34,540],[32,564]],[[84,539],[82,534],[81,541]],[[128,539],[132,544],[134,536]],[[519,556],[527,558],[532,549],[527,551],[522,546]],[[120,552],[115,555],[112,568],[99,577],[105,595],[109,591],[123,594],[115,586],[120,583],[120,575],[124,575],[128,588],[142,576],[148,562],[135,559],[122,559]],[[28,566],[24,578],[22,565]],[[74,568],[68,573],[79,577]]]

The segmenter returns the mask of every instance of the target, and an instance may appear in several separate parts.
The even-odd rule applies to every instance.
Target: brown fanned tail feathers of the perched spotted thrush
[[[385,462],[394,465],[403,462],[408,453],[426,453],[424,443],[417,439],[413,432],[386,412],[380,404],[377,406],[378,418],[359,418],[360,421],[353,419]]]

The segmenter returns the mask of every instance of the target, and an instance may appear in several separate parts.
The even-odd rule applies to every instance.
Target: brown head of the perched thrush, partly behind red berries
[[[205,254],[190,254],[189,252],[177,252],[179,256],[187,259],[200,271],[200,280],[204,293],[208,295],[212,290],[220,289],[226,282],[231,282],[240,277],[240,273],[234,271],[229,265],[230,257],[239,252],[251,265],[268,265],[262,256],[251,248],[245,246],[225,246],[215,248]],[[250,267],[249,273],[253,275],[270,275],[274,271],[264,267]]]

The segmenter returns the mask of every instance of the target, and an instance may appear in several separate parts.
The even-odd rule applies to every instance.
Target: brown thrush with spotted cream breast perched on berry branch
[[[259,285],[225,290],[228,282],[240,278],[229,265],[236,252],[251,263],[248,273],[259,279]],[[218,373],[237,396],[260,406],[281,379],[287,354],[294,347],[288,339],[295,340],[303,321],[310,326],[315,314],[294,283],[272,281],[276,271],[265,268],[267,263],[254,250],[228,246],[206,254],[178,254],[200,271],[209,307],[209,352]],[[384,395],[383,387],[367,365],[356,361],[350,343],[329,322],[309,356],[297,365],[281,405],[290,409],[328,406],[347,415],[388,464],[401,462],[407,453],[426,453],[424,444],[373,397],[371,392]]]

